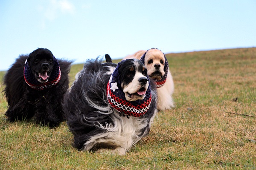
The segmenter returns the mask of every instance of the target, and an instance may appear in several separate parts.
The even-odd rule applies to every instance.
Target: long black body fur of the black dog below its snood
[[[68,73],[72,62],[59,59],[60,81],[50,88],[38,91],[29,87],[23,77],[24,63],[28,57],[29,55],[20,55],[4,76],[3,92],[8,102],[6,116],[10,122],[34,119],[49,127],[58,126],[64,120],[61,102],[68,89]]]

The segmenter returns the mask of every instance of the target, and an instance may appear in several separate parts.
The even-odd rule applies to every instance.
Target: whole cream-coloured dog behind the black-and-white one
[[[174,107],[172,94],[174,92],[174,82],[169,70],[168,61],[157,48],[151,48],[148,51],[140,50],[124,59],[140,59],[148,69],[148,76],[154,80],[157,86],[157,109],[166,110]]]

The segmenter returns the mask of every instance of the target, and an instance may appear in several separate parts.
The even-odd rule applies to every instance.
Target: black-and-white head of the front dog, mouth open
[[[118,64],[118,72],[125,99],[129,102],[144,99],[149,85],[145,65],[138,59],[126,59]]]

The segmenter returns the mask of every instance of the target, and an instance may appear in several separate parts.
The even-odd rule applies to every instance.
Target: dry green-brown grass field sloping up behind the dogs
[[[0,170],[255,170],[256,48],[166,57],[175,82],[176,107],[158,112],[150,134],[126,156],[77,151],[66,122],[55,129],[6,122],[7,103],[1,94]],[[72,66],[72,80],[82,67]]]

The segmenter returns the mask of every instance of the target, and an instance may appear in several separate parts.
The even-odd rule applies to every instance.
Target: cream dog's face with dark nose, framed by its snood
[[[148,69],[148,76],[152,79],[160,80],[165,73],[164,67],[166,59],[162,51],[151,48],[145,54],[145,66]]]

